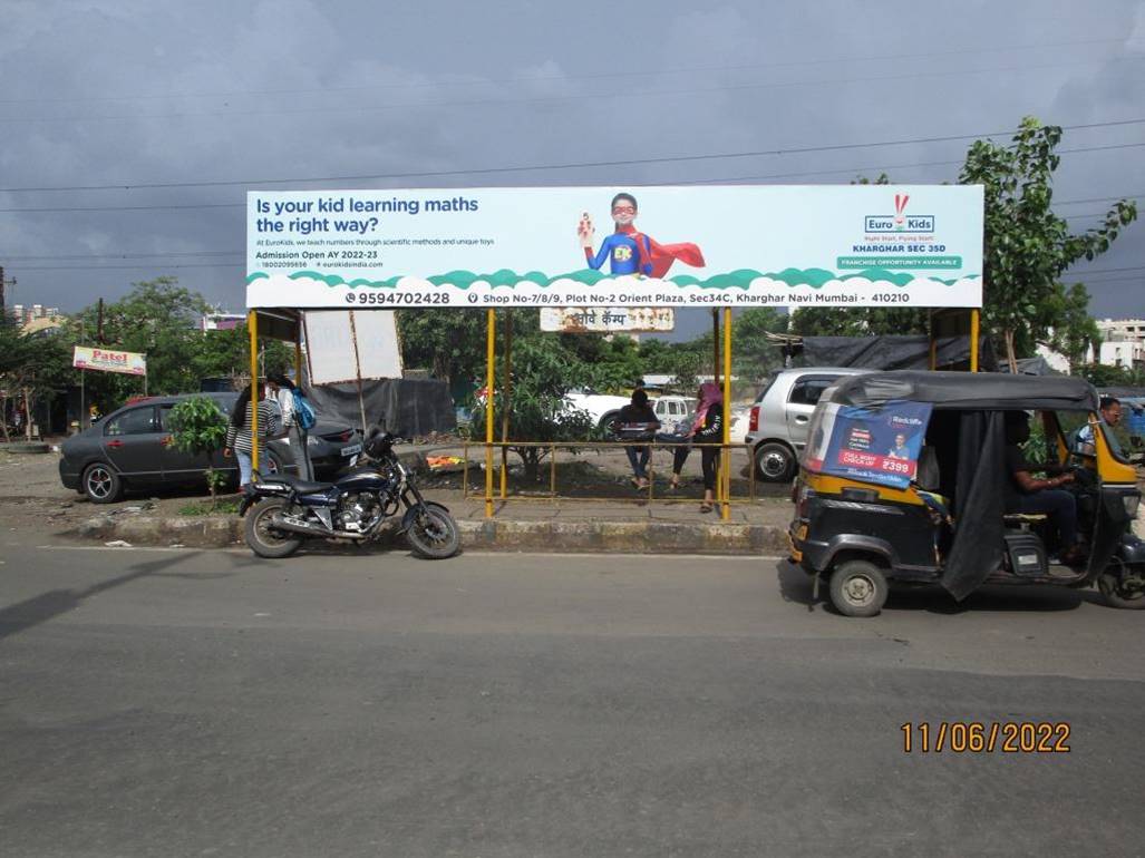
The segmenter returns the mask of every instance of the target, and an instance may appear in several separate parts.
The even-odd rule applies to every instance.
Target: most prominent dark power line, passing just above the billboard
[[[1088,122],[1083,125],[1066,125],[1060,126],[1063,130],[1081,130],[1085,128],[1112,128],[1129,125],[1142,125],[1145,124],[1145,119],[1123,119],[1110,122]],[[631,167],[640,165],[650,164],[672,164],[678,161],[708,161],[708,160],[720,160],[726,158],[758,158],[764,156],[785,156],[785,154],[802,154],[808,152],[839,152],[852,149],[876,149],[878,146],[899,146],[899,145],[913,145],[919,143],[945,143],[957,140],[977,140],[981,137],[996,137],[1005,134],[1012,134],[1009,132],[992,132],[989,134],[953,134],[938,137],[911,137],[911,138],[900,138],[900,140],[886,140],[886,141],[874,141],[869,143],[836,143],[831,145],[819,145],[819,146],[790,146],[785,149],[761,149],[755,151],[745,152],[725,152],[725,153],[708,153],[708,154],[687,154],[687,156],[665,156],[661,158],[627,158],[618,159],[611,161],[570,161],[563,164],[540,164],[540,165],[528,165],[519,167],[477,167],[471,169],[449,169],[449,170],[424,170],[424,172],[408,172],[408,173],[373,173],[363,175],[345,175],[345,176],[316,176],[311,178],[302,177],[291,177],[291,178],[253,178],[253,180],[219,180],[219,181],[207,181],[207,182],[126,182],[119,184],[98,184],[98,185],[46,185],[46,186],[25,186],[25,188],[0,188],[0,193],[32,193],[32,192],[49,192],[49,191],[131,191],[131,190],[142,190],[142,189],[172,189],[172,188],[226,188],[234,185],[256,185],[256,184],[290,184],[290,183],[310,183],[310,182],[361,182],[361,181],[377,181],[377,180],[388,180],[388,178],[437,178],[444,176],[475,176],[475,175],[491,175],[498,173],[527,173],[534,170],[556,170],[556,169],[583,169],[589,167]],[[1140,146],[1145,143],[1126,143],[1118,144],[1119,148],[1128,146]],[[1097,151],[1095,148],[1093,151]],[[1074,149],[1072,152],[1083,152],[1090,151],[1088,148]],[[0,209],[0,210],[23,210],[23,209]]]

